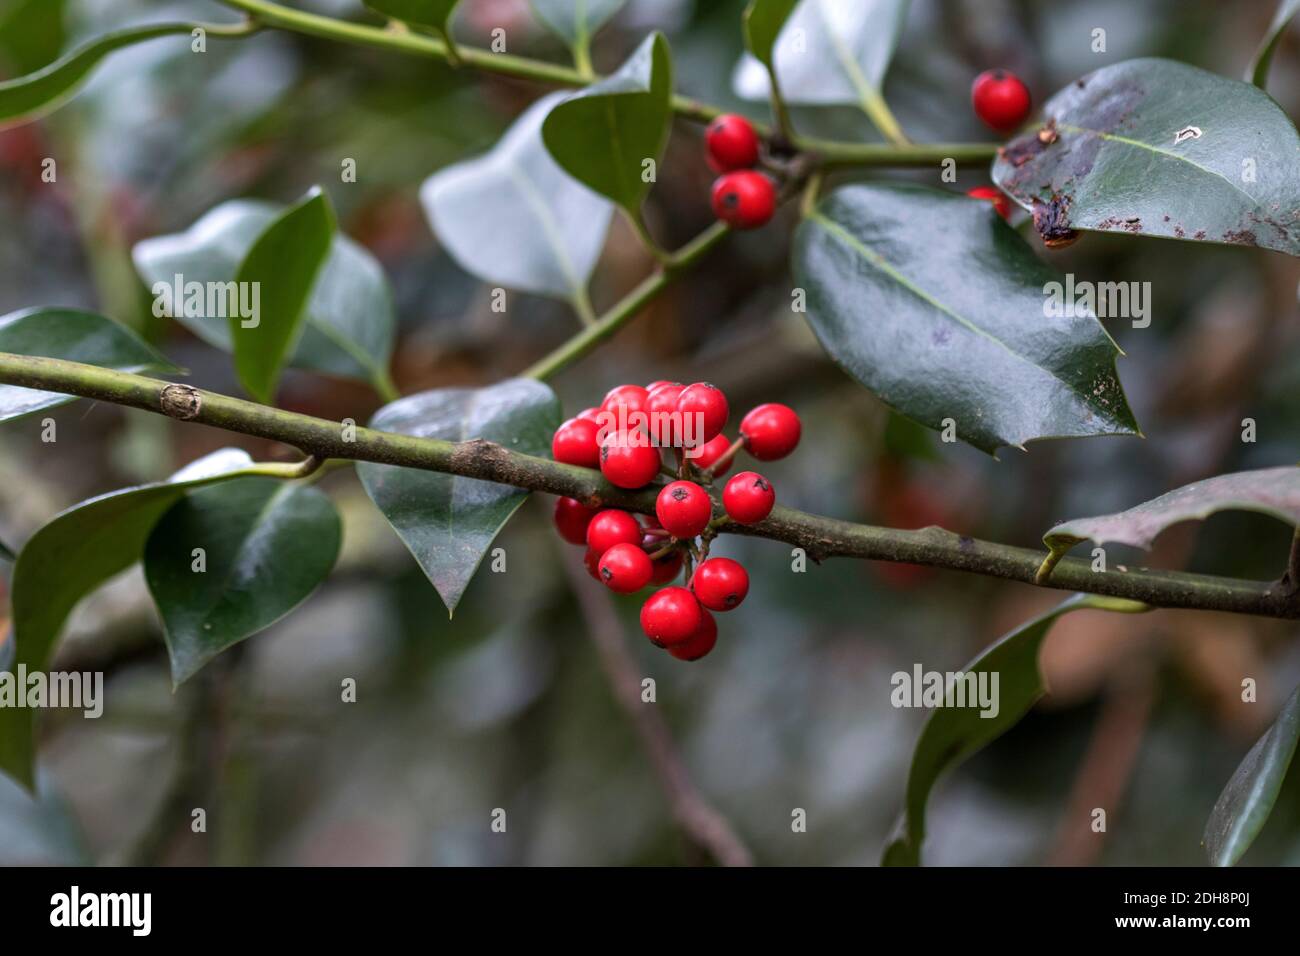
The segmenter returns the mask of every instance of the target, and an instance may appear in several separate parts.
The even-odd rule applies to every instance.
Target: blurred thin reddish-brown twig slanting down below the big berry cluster
[[[692,844],[706,851],[723,866],[753,866],[753,856],[731,823],[705,800],[692,782],[659,709],[642,702],[641,678],[628,653],[623,627],[610,598],[598,588],[590,587],[586,571],[571,555],[563,555],[560,563],[572,581],[586,632],[595,645],[614,700],[641,739],[677,826]]]

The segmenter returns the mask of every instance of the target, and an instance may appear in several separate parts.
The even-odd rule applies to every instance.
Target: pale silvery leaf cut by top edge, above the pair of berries
[[[760,13],[757,8],[768,8]],[[768,95],[762,42],[771,43],[771,68],[781,98],[802,105],[852,104],[867,109],[881,96],[885,73],[907,18],[907,0],[801,0],[783,17],[786,4],[755,4],[759,30],[746,27],[754,57],[736,70],[736,91],[748,99]],[[774,33],[775,31],[775,33]],[[755,44],[755,40],[759,40]],[[757,46],[757,48],[755,48]],[[867,112],[871,112],[867,109]]]

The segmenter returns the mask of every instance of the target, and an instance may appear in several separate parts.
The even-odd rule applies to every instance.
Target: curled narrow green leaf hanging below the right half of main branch
[[[911,756],[907,773],[907,796],[894,835],[885,847],[883,866],[919,866],[920,847],[926,839],[926,804],[930,792],[945,770],[957,766],[972,753],[1002,736],[1020,722],[1046,687],[1039,672],[1039,648],[1057,618],[1069,611],[1096,609],[1139,614],[1149,610],[1138,601],[1098,594],[1075,594],[1046,614],[1022,624],[984,649],[962,669],[962,674],[997,675],[997,714],[980,717],[978,706],[952,706],[949,688],[945,706],[936,708],[926,721]]]

